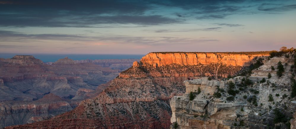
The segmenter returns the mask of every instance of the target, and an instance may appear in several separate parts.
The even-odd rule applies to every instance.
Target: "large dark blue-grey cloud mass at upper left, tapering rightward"
[[[2,27],[102,27],[102,24],[159,25],[178,19],[148,15],[145,1],[11,1],[0,4]]]

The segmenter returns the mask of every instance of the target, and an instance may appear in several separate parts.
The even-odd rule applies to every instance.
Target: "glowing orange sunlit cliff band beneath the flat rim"
[[[255,57],[268,56],[267,54],[225,54],[225,53],[156,53],[147,54],[141,59],[143,65],[164,66],[179,65],[207,65],[221,62],[225,65],[249,66]]]

